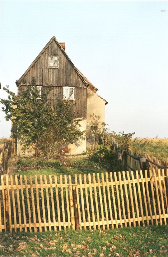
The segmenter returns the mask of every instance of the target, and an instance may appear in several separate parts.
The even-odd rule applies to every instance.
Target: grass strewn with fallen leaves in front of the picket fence
[[[0,233],[0,256],[167,256],[167,226]]]

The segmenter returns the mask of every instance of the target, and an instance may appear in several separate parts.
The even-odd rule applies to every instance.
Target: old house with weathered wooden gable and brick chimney
[[[21,78],[16,81],[18,93],[21,88],[29,85],[32,77],[35,77],[40,92],[45,90],[47,84],[52,85],[49,98],[53,99],[53,104],[56,100],[54,97],[67,99],[73,88],[70,99],[76,102],[74,111],[78,113],[78,118],[82,119],[80,122],[82,131],[90,126],[90,114],[99,115],[100,121],[104,121],[107,101],[96,93],[98,89],[74,66],[65,52],[65,43],[58,43],[55,37],[50,39]],[[89,146],[89,142],[84,140],[78,146],[71,144],[69,147],[71,154],[80,154]]]

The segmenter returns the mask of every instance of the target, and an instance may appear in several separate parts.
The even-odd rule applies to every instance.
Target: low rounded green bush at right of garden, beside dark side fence
[[[112,146],[101,144],[97,146],[96,151],[92,155],[92,159],[98,162],[105,162],[106,160],[112,161],[114,158],[114,151]]]

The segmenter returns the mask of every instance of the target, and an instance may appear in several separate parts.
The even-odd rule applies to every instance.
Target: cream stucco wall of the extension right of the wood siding
[[[87,130],[90,128],[90,121],[89,115],[96,114],[100,116],[100,121],[105,121],[105,100],[99,97],[96,93],[92,92],[90,89],[87,88],[87,108],[86,108],[86,133]],[[91,148],[91,144],[86,140],[86,148]]]

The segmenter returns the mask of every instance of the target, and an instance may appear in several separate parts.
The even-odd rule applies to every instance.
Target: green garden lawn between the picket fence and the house
[[[21,167],[20,167],[21,165]],[[93,174],[93,173],[105,173],[107,171],[112,171],[110,163],[96,163],[91,159],[80,158],[80,159],[71,159],[66,160],[66,167],[62,167],[59,161],[46,161],[46,160],[30,160],[28,158],[23,158],[18,162],[19,171],[16,171],[13,175],[18,173],[26,175],[29,178],[32,175],[33,179],[35,175],[69,175],[71,174],[72,182],[74,181],[74,174]],[[59,181],[58,181],[59,182]]]

